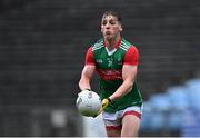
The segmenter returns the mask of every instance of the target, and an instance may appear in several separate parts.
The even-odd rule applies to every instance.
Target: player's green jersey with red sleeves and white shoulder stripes
[[[96,66],[99,75],[99,95],[101,99],[108,98],[123,83],[122,67],[123,65],[138,66],[139,51],[126,39],[120,39],[116,49],[109,51],[103,39],[92,45],[86,56],[86,65]],[[141,106],[141,93],[134,81],[130,92],[114,100],[109,105],[106,111],[114,112],[130,106]]]

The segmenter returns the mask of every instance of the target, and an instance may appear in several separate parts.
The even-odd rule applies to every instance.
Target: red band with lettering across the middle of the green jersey
[[[98,69],[97,72],[99,73],[100,78],[103,80],[120,80],[122,79],[121,70],[100,70]]]

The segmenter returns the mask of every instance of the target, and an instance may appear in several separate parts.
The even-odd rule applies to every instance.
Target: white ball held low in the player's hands
[[[76,105],[81,115],[93,117],[101,108],[101,99],[98,93],[83,90],[78,95]]]

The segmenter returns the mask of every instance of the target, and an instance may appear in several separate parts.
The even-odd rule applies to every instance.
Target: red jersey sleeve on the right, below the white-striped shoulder
[[[124,56],[124,65],[137,66],[138,63],[139,63],[139,51],[134,46],[131,46]]]

